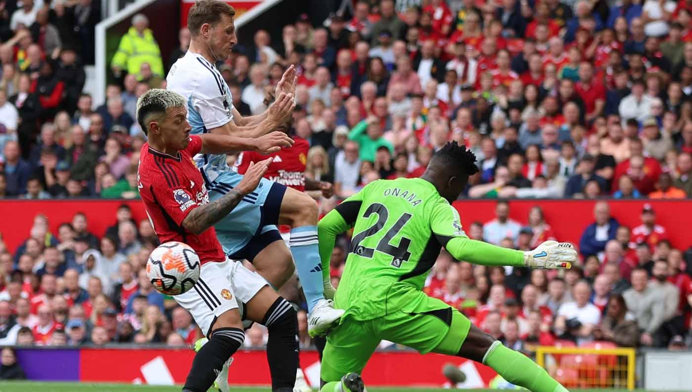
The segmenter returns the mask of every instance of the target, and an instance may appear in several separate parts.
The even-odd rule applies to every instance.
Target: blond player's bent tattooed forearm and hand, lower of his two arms
[[[235,188],[211,203],[192,209],[190,214],[183,219],[183,227],[194,234],[201,234],[204,230],[221,221],[233,211],[240,200],[255,190],[270,163],[271,158],[258,163],[251,163],[245,176]]]

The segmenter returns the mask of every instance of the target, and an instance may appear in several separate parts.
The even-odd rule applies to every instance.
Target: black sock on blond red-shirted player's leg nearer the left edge
[[[209,342],[202,346],[197,355],[194,355],[183,392],[207,392],[214,384],[224,363],[237,351],[244,340],[245,333],[242,329],[218,328],[212,332]]]

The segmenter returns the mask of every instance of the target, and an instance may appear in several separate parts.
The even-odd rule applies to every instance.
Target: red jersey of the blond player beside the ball
[[[197,252],[202,264],[224,261],[216,230],[210,227],[195,235],[183,227],[192,209],[209,203],[202,175],[192,157],[202,149],[199,136],[190,136],[188,148],[178,156],[156,151],[145,143],[140,151],[137,183],[147,216],[161,243],[179,241]]]

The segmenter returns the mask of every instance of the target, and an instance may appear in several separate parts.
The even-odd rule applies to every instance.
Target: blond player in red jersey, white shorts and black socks
[[[277,105],[288,113],[293,96],[281,93]],[[201,261],[193,290],[174,296],[209,339],[194,357],[183,392],[207,391],[217,375],[228,368],[224,365],[245,339],[242,318],[268,328],[273,391],[292,391],[298,367],[295,310],[260,275],[226,258],[213,227],[253,192],[269,160],[252,165],[235,188],[212,202],[192,160],[200,152],[253,149],[271,153],[289,147],[292,141],[280,132],[254,139],[210,133],[190,136],[185,106],[181,95],[158,88],[147,91],[137,102],[137,121],[148,138],[140,151],[137,183],[149,220],[161,243],[187,243]],[[239,302],[244,304],[243,315]],[[227,374],[225,378],[223,387],[228,391]]]

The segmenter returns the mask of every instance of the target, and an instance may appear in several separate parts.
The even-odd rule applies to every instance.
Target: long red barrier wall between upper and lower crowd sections
[[[3,221],[0,234],[8,250],[14,252],[28,238],[33,218],[37,214],[48,216],[51,232],[57,234],[57,226],[69,222],[75,212],[84,212],[89,218],[89,230],[102,236],[107,227],[116,222],[118,205],[127,203],[136,220],[147,218],[139,200],[2,200],[0,211]],[[594,221],[594,200],[512,200],[510,218],[527,223],[529,209],[540,205],[547,223],[552,226],[560,241],[579,245],[579,238],[587,225]],[[630,228],[639,225],[639,215],[644,203],[650,203],[657,213],[657,223],[666,230],[673,246],[687,249],[692,246],[689,235],[689,216],[692,216],[692,200],[609,200],[610,211],[621,224]],[[454,203],[459,209],[462,225],[468,227],[474,221],[485,223],[495,215],[495,200],[464,200]]]

